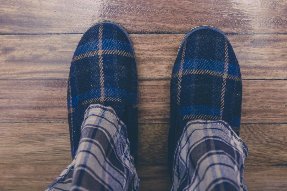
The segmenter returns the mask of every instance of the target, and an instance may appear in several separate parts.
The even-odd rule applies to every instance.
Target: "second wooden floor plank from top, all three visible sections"
[[[287,79],[287,35],[227,35],[243,79]],[[0,79],[67,79],[82,35],[0,35]],[[182,34],[130,35],[139,79],[170,79]]]

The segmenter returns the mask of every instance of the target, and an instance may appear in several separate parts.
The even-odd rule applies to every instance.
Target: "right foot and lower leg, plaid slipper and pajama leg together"
[[[225,183],[222,181],[227,176],[230,177],[230,173],[239,170],[242,171],[240,175],[243,176],[247,148],[242,140],[236,137],[239,135],[240,128],[241,100],[240,68],[227,37],[217,28],[210,26],[200,26],[190,30],[179,48],[170,83],[168,165],[170,176],[174,181],[172,189],[199,188],[196,186],[196,178],[198,178],[201,185],[211,186],[200,187],[200,190],[224,190],[222,184]],[[195,119],[203,121],[197,121],[199,124],[195,125],[191,123]],[[220,120],[225,125],[221,127],[218,123],[214,124],[212,120]],[[227,130],[228,128],[229,130]],[[220,132],[224,133],[220,134]],[[226,136],[229,134],[232,136]],[[216,142],[214,141],[215,137],[220,137],[222,140]],[[235,143],[235,139],[238,143]],[[202,141],[202,149],[194,147],[199,144],[196,141]],[[244,145],[242,152],[236,150],[238,145]],[[214,155],[225,148],[229,148],[230,152],[223,154],[223,159],[217,154]],[[205,156],[208,152],[213,154],[201,163],[200,157]],[[230,158],[231,161],[226,161],[226,157],[231,153],[238,154],[234,156],[235,158]],[[186,156],[184,160],[178,158],[184,155]],[[239,160],[239,158],[240,161],[234,163],[231,171],[228,168],[223,168],[224,165],[217,164],[218,161],[223,161],[220,163],[226,162],[225,165],[230,165],[232,160]],[[175,167],[174,163],[178,166]],[[184,169],[182,165],[188,169]],[[197,169],[199,167],[200,169]],[[199,174],[202,171],[205,172],[203,173],[204,177],[202,173]],[[189,175],[184,177],[185,175],[182,173],[189,173]],[[235,176],[237,177],[238,173],[235,173]],[[216,179],[220,179],[221,182],[216,182]],[[186,182],[183,183],[183,180]],[[213,183],[211,184],[211,182]],[[245,185],[244,180],[241,180],[241,184]],[[234,188],[244,188],[242,185],[238,184]]]

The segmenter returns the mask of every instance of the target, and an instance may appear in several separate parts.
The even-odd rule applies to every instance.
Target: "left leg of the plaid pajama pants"
[[[127,128],[112,107],[90,105],[71,165],[48,190],[139,190],[139,177],[127,139]]]

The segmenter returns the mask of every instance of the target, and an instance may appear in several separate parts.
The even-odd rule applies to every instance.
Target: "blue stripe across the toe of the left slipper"
[[[73,57],[85,54],[88,52],[98,51],[99,41],[92,41],[82,45],[79,45],[75,51]],[[114,39],[103,39],[102,40],[102,49],[103,50],[121,50],[125,52],[131,52],[130,44],[124,41],[114,40]]]

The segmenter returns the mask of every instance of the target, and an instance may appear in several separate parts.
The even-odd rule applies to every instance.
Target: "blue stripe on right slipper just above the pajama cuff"
[[[220,108],[212,106],[192,105],[182,107],[183,115],[211,115],[220,117]]]

